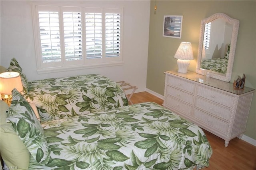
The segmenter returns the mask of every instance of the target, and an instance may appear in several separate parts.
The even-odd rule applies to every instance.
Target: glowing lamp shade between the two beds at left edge
[[[0,93],[11,95],[16,88],[18,92],[23,91],[23,86],[18,72],[3,72],[0,74]]]

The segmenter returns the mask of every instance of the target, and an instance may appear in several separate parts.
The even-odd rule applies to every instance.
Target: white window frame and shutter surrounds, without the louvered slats
[[[61,49],[61,62],[43,63],[42,62],[42,48],[41,48],[41,38],[40,38],[40,26],[39,26],[39,14],[40,8],[48,8],[50,10],[58,8],[59,14],[59,27],[60,27],[60,44]],[[63,31],[63,12],[66,12],[68,8],[80,8],[81,19],[82,19],[82,60],[74,60],[72,62],[67,62],[65,58],[65,46],[64,44],[64,31]],[[48,10],[48,11],[50,11]],[[120,45],[119,45],[119,56],[118,57],[106,57],[105,53],[102,53],[101,58],[86,58],[86,28],[85,28],[85,14],[86,12],[94,11],[102,13],[102,52],[105,52],[106,42],[105,42],[105,14],[106,13],[118,13],[120,14]],[[70,11],[71,12],[71,11]],[[72,11],[76,12],[76,11]],[[33,3],[32,4],[32,19],[33,19],[33,31],[34,31],[34,44],[36,52],[36,64],[38,74],[50,73],[50,72],[63,72],[70,70],[80,70],[88,68],[98,68],[98,67],[108,67],[108,66],[119,66],[124,64],[122,55],[122,44],[123,44],[123,8],[109,8],[109,7],[88,7],[83,4],[68,4],[62,3]],[[104,55],[103,55],[104,54]]]

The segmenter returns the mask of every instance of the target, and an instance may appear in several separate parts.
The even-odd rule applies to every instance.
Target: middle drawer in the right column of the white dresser
[[[229,109],[217,106],[201,98],[196,98],[195,106],[205,110],[206,112],[210,112],[211,114],[219,116],[220,118],[226,119],[228,121],[230,120],[231,110]]]

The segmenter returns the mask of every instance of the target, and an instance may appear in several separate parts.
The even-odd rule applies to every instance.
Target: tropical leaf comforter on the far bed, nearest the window
[[[99,74],[31,81],[24,97],[42,122],[128,105],[120,85]]]

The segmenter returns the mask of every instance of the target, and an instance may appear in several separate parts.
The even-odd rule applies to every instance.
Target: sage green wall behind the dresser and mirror
[[[154,6],[157,10],[154,11]],[[240,21],[231,82],[238,74],[246,75],[245,85],[256,88],[256,1],[151,1],[148,43],[148,72],[146,87],[164,95],[164,71],[176,70],[173,58],[180,42],[192,43],[194,60],[188,70],[196,70],[200,22],[212,14],[222,12]],[[182,36],[163,37],[164,15],[182,15]],[[247,122],[246,136],[256,140],[256,94],[254,93]]]

